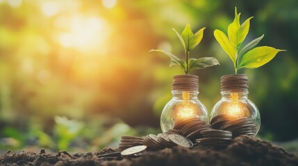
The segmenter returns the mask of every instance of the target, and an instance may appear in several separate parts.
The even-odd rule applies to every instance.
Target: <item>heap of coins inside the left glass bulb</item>
[[[202,138],[200,132],[210,129],[210,124],[206,124],[206,122],[199,117],[192,116],[176,120],[173,129],[181,130],[181,135],[190,140],[195,140],[196,138]]]

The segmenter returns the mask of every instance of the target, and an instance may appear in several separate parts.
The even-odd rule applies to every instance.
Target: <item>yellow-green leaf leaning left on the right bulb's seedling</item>
[[[235,66],[237,50],[231,44],[231,42],[229,41],[228,37],[226,37],[226,35],[222,31],[220,31],[220,30],[214,30],[214,37],[217,40],[217,42],[220,44],[220,46],[222,46],[222,49],[224,49],[224,51],[232,59],[233,64]]]

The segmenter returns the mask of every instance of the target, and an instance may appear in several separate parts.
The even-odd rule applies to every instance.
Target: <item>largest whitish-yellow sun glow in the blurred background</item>
[[[58,36],[65,47],[89,49],[103,43],[108,36],[106,22],[99,17],[73,17],[69,20],[66,33]]]

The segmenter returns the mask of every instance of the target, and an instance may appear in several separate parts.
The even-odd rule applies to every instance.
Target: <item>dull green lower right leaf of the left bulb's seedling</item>
[[[220,64],[215,57],[201,57],[199,59],[190,58],[188,60],[189,69],[192,71],[194,69],[206,68],[210,66],[215,66]]]

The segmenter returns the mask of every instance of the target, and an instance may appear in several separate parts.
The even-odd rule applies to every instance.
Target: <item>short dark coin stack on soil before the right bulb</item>
[[[199,147],[226,147],[232,140],[232,133],[230,131],[208,129],[201,131],[204,138],[196,139]]]

